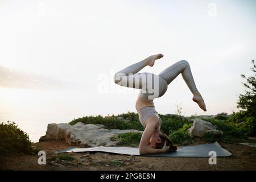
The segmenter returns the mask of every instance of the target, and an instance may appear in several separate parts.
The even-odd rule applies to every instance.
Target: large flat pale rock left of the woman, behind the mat
[[[115,146],[118,141],[110,140],[120,133],[138,132],[138,130],[108,130],[104,125],[84,125],[78,122],[76,125],[67,123],[51,123],[47,126],[46,135],[39,142],[47,140],[64,140],[68,144],[84,144],[89,147]]]

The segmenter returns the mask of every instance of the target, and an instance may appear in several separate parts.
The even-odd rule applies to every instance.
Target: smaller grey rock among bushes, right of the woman
[[[216,127],[208,121],[200,118],[195,118],[190,129],[188,129],[190,137],[203,137],[204,134],[210,133],[214,135],[223,134],[222,131],[216,130]]]

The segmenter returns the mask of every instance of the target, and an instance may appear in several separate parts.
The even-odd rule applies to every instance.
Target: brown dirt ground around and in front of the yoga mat
[[[252,141],[249,141],[252,142]],[[255,141],[254,141],[255,143]],[[197,143],[199,144],[199,143]],[[40,150],[46,151],[47,164],[38,164],[38,155],[18,155],[0,157],[0,169],[2,170],[256,170],[256,148],[243,146],[239,143],[224,144],[223,148],[233,155],[226,158],[217,158],[216,165],[208,163],[209,158],[164,158],[128,156],[96,153],[72,153],[75,160],[49,159],[54,156],[56,150],[72,147],[64,142],[41,142],[34,146],[40,146]]]

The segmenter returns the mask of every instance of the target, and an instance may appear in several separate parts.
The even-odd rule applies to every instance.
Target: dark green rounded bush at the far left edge
[[[14,122],[0,125],[0,155],[15,153],[31,154],[31,142],[28,134],[20,130]]]

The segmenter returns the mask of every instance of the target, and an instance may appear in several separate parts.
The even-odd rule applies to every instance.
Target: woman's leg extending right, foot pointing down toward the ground
[[[167,84],[169,85],[172,80],[174,80],[179,74],[181,73],[184,81],[188,85],[188,88],[191,90],[193,94],[193,101],[197,102],[197,104],[206,111],[205,104],[203,97],[196,88],[195,81],[192,76],[192,72],[189,66],[188,61],[181,60],[177,63],[171,65],[170,67],[164,69],[164,71],[159,73],[159,76],[166,80]]]

